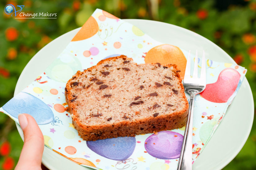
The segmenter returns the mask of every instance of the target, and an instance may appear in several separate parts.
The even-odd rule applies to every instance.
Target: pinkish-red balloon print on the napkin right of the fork
[[[219,74],[215,83],[207,84],[201,96],[214,103],[226,103],[236,91],[240,74],[233,68],[226,68]]]

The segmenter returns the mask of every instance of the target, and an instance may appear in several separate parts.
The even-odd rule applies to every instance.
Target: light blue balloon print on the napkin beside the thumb
[[[43,101],[25,92],[20,92],[2,107],[11,116],[18,118],[20,113],[34,117],[38,125],[45,125],[54,120],[52,110]]]

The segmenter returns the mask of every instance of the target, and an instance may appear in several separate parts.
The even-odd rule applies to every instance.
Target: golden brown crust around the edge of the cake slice
[[[115,123],[113,125],[97,125],[97,126],[86,126],[80,123],[78,115],[76,113],[76,106],[72,100],[72,95],[70,94],[71,86],[70,82],[77,76],[82,75],[87,71],[91,71],[93,68],[97,67],[98,65],[105,63],[107,61],[115,61],[118,58],[124,58],[124,60],[132,60],[132,58],[127,58],[124,55],[118,57],[111,57],[98,62],[96,66],[92,66],[83,72],[77,71],[77,73],[70,79],[65,88],[65,96],[66,101],[69,106],[70,114],[72,115],[73,125],[75,129],[78,131],[78,134],[84,140],[98,140],[98,139],[106,139],[106,138],[117,138],[119,136],[135,136],[138,134],[146,134],[146,133],[153,133],[159,132],[161,130],[172,130],[181,128],[186,124],[186,117],[188,113],[188,102],[186,100],[185,93],[183,93],[183,98],[186,100],[186,106],[181,112],[173,113],[171,115],[159,115],[154,118],[145,118],[138,121],[122,121],[119,123]],[[176,77],[179,78],[179,85],[184,91],[184,87],[182,85],[182,80],[180,79],[179,71],[175,64],[168,64],[164,65],[166,67],[173,66],[173,71],[176,74]]]

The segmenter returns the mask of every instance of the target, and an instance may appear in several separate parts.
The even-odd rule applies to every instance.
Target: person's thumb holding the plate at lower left
[[[31,115],[19,114],[18,118],[24,134],[24,145],[15,169],[41,169],[43,134]]]

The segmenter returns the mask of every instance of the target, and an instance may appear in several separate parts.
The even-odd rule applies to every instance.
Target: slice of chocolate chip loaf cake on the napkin
[[[124,55],[77,73],[65,88],[74,127],[84,140],[181,128],[188,101],[176,65],[137,64]]]

